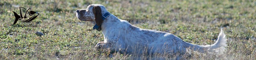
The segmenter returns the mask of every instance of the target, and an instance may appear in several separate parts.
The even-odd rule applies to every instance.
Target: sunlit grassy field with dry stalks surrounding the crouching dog
[[[224,29],[228,39],[225,54],[192,53],[187,59],[256,59],[255,0],[0,0],[0,59],[133,59],[132,55],[118,53],[109,58],[108,53],[95,51],[103,34],[75,16],[77,9],[86,9],[89,4],[102,4],[132,25],[172,33],[192,44],[213,44]],[[31,8],[40,15],[13,25],[12,11],[19,12],[19,7]],[[37,36],[37,31],[44,35]]]

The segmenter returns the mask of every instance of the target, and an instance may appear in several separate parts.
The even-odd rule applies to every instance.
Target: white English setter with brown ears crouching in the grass
[[[187,51],[186,48],[201,53],[223,54],[225,46],[227,46],[227,39],[222,30],[213,45],[195,45],[185,42],[171,33],[135,27],[128,21],[118,19],[100,4],[91,4],[87,9],[78,9],[76,16],[81,21],[95,24],[93,29],[102,31],[104,41],[97,43],[96,48],[110,49],[110,51],[121,54],[169,53],[179,54],[176,57],[179,59]]]

